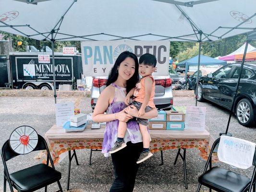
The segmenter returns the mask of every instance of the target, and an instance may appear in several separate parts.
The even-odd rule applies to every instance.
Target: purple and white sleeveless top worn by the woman
[[[107,109],[107,114],[117,113],[127,107],[124,103],[124,91],[126,91],[126,88],[119,87],[116,84],[111,85],[115,87],[115,95],[113,101]],[[106,157],[109,156],[109,151],[114,146],[114,143],[117,140],[118,124],[119,120],[112,120],[106,123],[102,144],[102,153]],[[125,132],[123,139],[125,143],[129,141],[131,141],[132,143],[142,142],[139,125],[135,120],[127,122],[127,131]]]

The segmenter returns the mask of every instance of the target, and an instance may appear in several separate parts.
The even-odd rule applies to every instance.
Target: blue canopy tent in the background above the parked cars
[[[185,78],[186,78],[188,67],[191,65],[198,65],[198,55],[193,58],[190,58],[188,60],[183,60],[182,62],[179,62],[177,64],[177,67],[181,66],[181,65],[185,65],[185,67],[186,67],[186,72],[185,72]],[[200,56],[200,65],[227,65],[227,61],[216,60],[214,58],[201,55]]]

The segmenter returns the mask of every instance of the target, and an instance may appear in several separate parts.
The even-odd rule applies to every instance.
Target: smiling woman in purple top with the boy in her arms
[[[108,156],[110,152],[114,165],[115,180],[110,192],[132,192],[140,163],[138,158],[144,161],[152,156],[146,127],[147,120],[157,116],[153,103],[154,79],[151,76],[156,62],[152,56],[141,57],[139,69],[137,57],[129,51],[122,52],[94,109],[93,121],[107,122],[102,153]],[[143,76],[139,83],[138,72]],[[127,107],[133,95],[139,98]]]

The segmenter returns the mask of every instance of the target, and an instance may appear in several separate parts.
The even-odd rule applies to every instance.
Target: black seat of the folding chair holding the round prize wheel
[[[38,164],[10,174],[19,192],[35,191],[61,179],[61,173],[45,164]]]

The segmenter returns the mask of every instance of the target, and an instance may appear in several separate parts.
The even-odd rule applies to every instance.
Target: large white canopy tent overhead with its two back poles
[[[256,29],[255,0],[0,0],[0,6],[1,31],[51,41],[52,50],[55,41],[68,40],[199,42],[198,70],[201,42]],[[52,58],[54,65],[54,52]],[[54,70],[53,78],[56,103]]]

